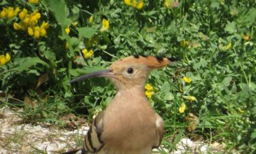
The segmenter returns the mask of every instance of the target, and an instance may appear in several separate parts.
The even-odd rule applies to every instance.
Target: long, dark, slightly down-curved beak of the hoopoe
[[[70,83],[77,82],[79,80],[86,80],[88,78],[93,78],[93,77],[102,77],[102,76],[114,76],[113,70],[108,69],[108,70],[103,70],[99,72],[93,72],[90,74],[86,74],[84,76],[79,76],[77,78],[74,78],[73,80],[70,81]]]

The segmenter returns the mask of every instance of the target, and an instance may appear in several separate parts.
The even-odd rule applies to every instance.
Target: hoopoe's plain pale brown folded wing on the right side
[[[164,120],[157,113],[155,114],[155,131],[157,139],[154,142],[153,148],[159,147],[164,136]]]

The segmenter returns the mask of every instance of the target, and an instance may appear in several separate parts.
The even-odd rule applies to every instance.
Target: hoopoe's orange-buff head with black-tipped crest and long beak
[[[108,77],[114,82],[116,89],[138,87],[144,89],[146,78],[151,70],[164,67],[174,59],[153,56],[130,56],[115,61],[107,70],[79,76],[71,82],[77,82],[91,77]]]

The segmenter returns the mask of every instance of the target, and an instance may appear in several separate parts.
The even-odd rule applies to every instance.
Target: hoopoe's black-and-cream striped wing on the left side
[[[92,122],[92,125],[84,138],[85,151],[95,153],[100,151],[103,147],[104,143],[101,139],[101,134],[103,132],[103,117],[104,112],[100,112]]]

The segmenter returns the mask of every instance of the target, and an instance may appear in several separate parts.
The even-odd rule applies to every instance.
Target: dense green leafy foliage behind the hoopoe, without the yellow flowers
[[[6,62],[0,65],[1,91],[21,100],[29,95],[27,91],[38,89],[47,93],[44,97],[53,97],[44,101],[40,93],[29,95],[40,95],[41,103],[25,105],[25,121],[51,121],[46,120],[54,117],[49,113],[59,116],[71,108],[92,117],[111,101],[114,87],[103,78],[71,86],[72,78],[102,70],[110,61],[129,55],[179,57],[179,62],[152,72],[148,80],[155,89],[149,100],[166,125],[164,145],[174,148],[168,141],[175,132],[179,133],[173,144],[183,135],[192,135],[187,130],[191,123],[185,120],[192,113],[199,118],[193,134],[225,142],[227,151],[253,153],[255,5],[255,1],[181,0],[165,7],[162,0],[145,0],[138,10],[112,0],[1,1],[1,11],[20,7],[20,12],[26,8],[31,14],[37,9],[38,25],[49,23],[47,35],[36,38],[27,29],[14,29],[14,22],[21,21],[20,12],[13,18],[0,18],[0,55],[11,55],[9,62],[0,57],[0,62]],[[110,23],[107,30],[102,29],[107,27],[103,18]],[[70,33],[66,33],[68,29]],[[93,50],[93,56],[86,53],[86,57],[84,48]],[[185,82],[184,76],[192,82]],[[186,106],[183,113],[181,104]]]

